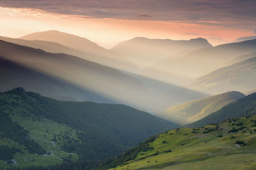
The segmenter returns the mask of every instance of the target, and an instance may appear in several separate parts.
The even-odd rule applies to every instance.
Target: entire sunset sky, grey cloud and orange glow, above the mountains
[[[0,0],[0,36],[58,30],[103,43],[136,36],[228,42],[256,35],[252,0]]]

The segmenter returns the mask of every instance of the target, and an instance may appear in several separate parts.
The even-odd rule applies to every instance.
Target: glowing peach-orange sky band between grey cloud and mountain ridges
[[[159,39],[221,38],[233,41],[253,36],[252,31],[214,25],[214,21],[195,24],[184,21],[120,20],[90,16],[63,15],[42,10],[0,7],[0,36],[19,38],[38,31],[58,30],[92,41],[124,41],[136,36]]]

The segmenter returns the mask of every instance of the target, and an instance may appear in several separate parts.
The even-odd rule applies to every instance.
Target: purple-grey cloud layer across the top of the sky
[[[243,29],[256,27],[255,0],[1,0],[0,6],[34,8],[93,18],[129,20],[147,18],[147,20],[184,21],[198,25],[223,25]]]

